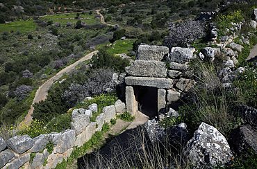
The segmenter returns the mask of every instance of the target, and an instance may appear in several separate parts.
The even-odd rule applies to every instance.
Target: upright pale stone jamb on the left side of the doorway
[[[138,110],[138,103],[135,100],[135,94],[133,87],[126,87],[126,112],[131,116],[135,116],[135,112]]]

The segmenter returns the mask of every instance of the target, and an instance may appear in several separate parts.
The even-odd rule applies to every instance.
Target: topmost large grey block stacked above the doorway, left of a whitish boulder
[[[140,45],[135,59],[161,61],[168,54],[169,48],[166,46]]]

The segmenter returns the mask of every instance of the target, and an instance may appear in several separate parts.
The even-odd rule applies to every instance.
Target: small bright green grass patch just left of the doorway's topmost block
[[[112,48],[108,49],[108,53],[110,53],[110,54],[117,54],[117,53],[128,54],[128,50],[133,48],[133,42],[135,42],[135,39],[117,40],[116,44],[113,45]]]

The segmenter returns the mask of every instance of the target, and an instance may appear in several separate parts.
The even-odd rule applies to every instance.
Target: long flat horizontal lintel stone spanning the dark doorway
[[[173,87],[173,80],[167,78],[146,78],[128,76],[125,78],[125,82],[129,86],[135,85],[144,87],[156,87],[158,89],[171,89]]]

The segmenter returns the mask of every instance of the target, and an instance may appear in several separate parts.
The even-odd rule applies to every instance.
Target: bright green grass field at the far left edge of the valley
[[[3,31],[17,31],[20,33],[24,33],[28,30],[35,30],[37,24],[33,23],[33,21],[13,21],[7,24],[0,24],[0,32]]]

